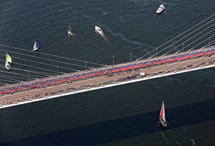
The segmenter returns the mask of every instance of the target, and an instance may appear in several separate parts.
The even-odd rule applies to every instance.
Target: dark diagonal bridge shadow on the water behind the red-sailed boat
[[[168,108],[168,129],[215,120],[215,100]],[[159,111],[128,118],[86,125],[71,130],[46,134],[5,145],[97,145],[127,139],[161,130],[158,127]]]

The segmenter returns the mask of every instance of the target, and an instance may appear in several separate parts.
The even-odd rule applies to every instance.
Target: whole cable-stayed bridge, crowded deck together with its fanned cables
[[[48,74],[50,70],[46,68],[43,68],[44,72],[24,70],[27,72],[27,76],[23,76],[21,74],[23,70],[16,67],[12,67],[12,69],[17,72],[1,71],[5,74],[0,80],[2,83],[0,86],[0,108],[214,67],[214,20],[215,14],[144,56],[126,63],[101,65],[82,61],[84,63],[83,70],[57,66],[55,75]],[[15,48],[2,44],[0,46]],[[15,49],[23,50],[21,48]],[[12,51],[10,50],[10,52]],[[18,51],[13,53],[20,55]],[[101,67],[90,67],[89,64],[101,65]],[[47,65],[47,63],[43,63],[43,65]],[[75,70],[75,72],[62,73],[59,68]],[[34,67],[34,69],[41,68]],[[6,84],[3,81],[5,77],[8,77],[8,74],[11,74],[10,77],[13,78],[10,83]]]

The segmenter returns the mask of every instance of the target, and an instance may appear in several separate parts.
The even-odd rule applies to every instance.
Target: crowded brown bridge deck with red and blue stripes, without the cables
[[[56,77],[48,77],[44,79],[38,79],[34,81],[29,81],[25,83],[19,83],[14,85],[7,85],[0,87],[0,108],[10,107],[14,105],[34,102],[38,100],[49,99],[52,97],[60,97],[66,94],[75,94],[80,92],[89,91],[91,89],[99,89],[108,87],[108,85],[118,83],[129,83],[151,79],[156,77],[161,77],[162,75],[174,74],[183,72],[188,72],[189,70],[194,70],[196,68],[202,67],[213,67],[215,66],[215,48],[204,49],[205,52],[212,50],[212,53],[201,54],[201,50],[195,50],[191,52],[183,52],[180,54],[168,55],[163,57],[157,57],[153,59],[141,60],[138,62],[130,62],[127,64],[118,64],[115,66],[107,66],[105,68],[96,69],[96,70],[86,70],[80,73],[71,73],[60,75]],[[197,52],[197,56],[195,53]],[[200,52],[200,53],[199,53]],[[204,53],[204,52],[203,52]],[[194,54],[192,57],[183,58],[183,55]],[[180,57],[175,57],[176,60],[170,60],[174,56],[182,56],[182,59],[177,59]],[[168,59],[165,59],[168,58]],[[161,60],[164,60],[161,62]],[[166,61],[170,60],[170,61]],[[156,61],[158,63],[156,63]],[[166,61],[166,62],[165,62]],[[138,66],[144,62],[154,62],[153,64],[148,63],[147,65]],[[118,69],[120,66],[132,65],[132,68],[129,66],[126,69]],[[113,69],[117,68],[117,69]],[[83,73],[97,72],[100,70],[113,69],[110,72],[105,73],[94,73],[94,75],[83,75]],[[189,70],[188,70],[189,69]],[[145,75],[141,75],[145,73]],[[82,74],[83,78],[70,79],[71,75]],[[66,80],[62,80],[66,78]],[[74,78],[74,77],[73,77]],[[54,81],[50,81],[53,80]],[[68,80],[67,80],[68,79]],[[49,81],[50,84],[44,84],[41,86],[35,86],[32,88],[24,88],[27,85],[37,85],[38,82]],[[49,83],[48,82],[48,83]],[[19,88],[16,88],[19,87]],[[22,88],[21,88],[22,87]],[[17,90],[19,89],[19,90]]]

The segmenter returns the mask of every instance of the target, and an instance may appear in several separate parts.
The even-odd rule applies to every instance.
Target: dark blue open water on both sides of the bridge
[[[112,64],[114,55],[121,63],[131,52],[136,59],[214,13],[213,0],[162,2],[166,11],[157,16],[156,0],[2,1],[0,44],[31,51],[37,40],[42,53],[101,64]],[[69,23],[73,39],[67,37]],[[94,25],[103,28],[107,41]],[[5,52],[0,53],[4,64]],[[214,145],[214,75],[208,69],[2,109],[0,143]],[[162,100],[166,130],[157,125]]]

